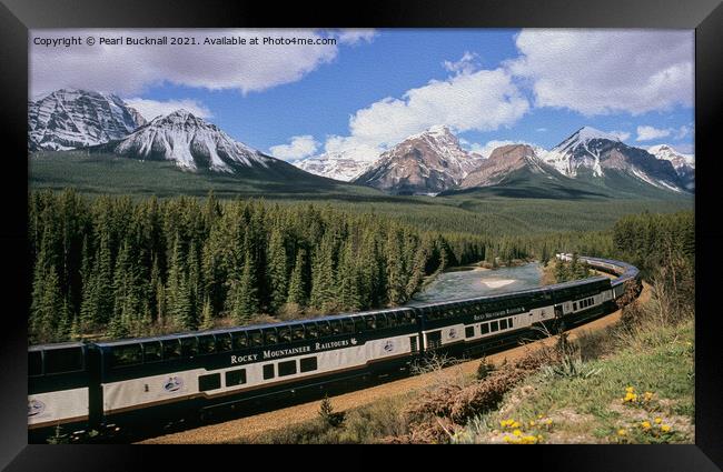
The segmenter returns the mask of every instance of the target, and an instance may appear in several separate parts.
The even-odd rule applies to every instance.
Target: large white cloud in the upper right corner
[[[537,107],[585,116],[693,106],[693,31],[523,30],[506,64]]]

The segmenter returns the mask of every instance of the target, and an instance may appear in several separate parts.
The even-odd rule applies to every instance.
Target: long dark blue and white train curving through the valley
[[[556,254],[571,260],[572,254]],[[476,356],[616,310],[638,270],[580,257],[596,275],[415,307],[28,350],[29,442],[316,393],[409,372],[430,353]]]

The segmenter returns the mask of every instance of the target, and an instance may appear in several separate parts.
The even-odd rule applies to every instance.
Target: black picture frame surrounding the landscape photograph
[[[28,30],[33,28],[156,28],[156,27],[402,27],[402,28],[682,28],[695,29],[695,153],[696,153],[696,322],[695,322],[695,444],[694,445],[571,445],[523,449],[487,446],[469,456],[482,463],[521,468],[544,465],[556,471],[714,471],[723,466],[723,363],[716,343],[716,267],[723,247],[717,229],[721,200],[716,175],[721,172],[720,132],[723,112],[721,57],[723,4],[717,0],[418,0],[388,2],[251,2],[149,0],[2,0],[0,4],[0,83],[2,90],[6,214],[0,228],[6,249],[3,329],[0,332],[0,466],[7,470],[147,470],[149,461],[166,462],[168,450],[132,445],[28,445],[27,312],[30,274],[27,229],[27,92]],[[719,289],[720,290],[720,289]],[[172,462],[189,464],[194,456],[237,458],[239,451],[174,448]],[[245,450],[246,451],[246,450]],[[455,451],[455,450],[453,450]],[[396,451],[394,451],[396,452]],[[422,452],[418,448],[403,451]],[[254,452],[256,454],[256,452]],[[268,451],[265,452],[268,454]],[[434,455],[455,458],[444,451]],[[319,459],[319,454],[269,454],[274,469]],[[284,459],[286,456],[286,459]],[[304,459],[299,459],[304,458]],[[331,455],[329,455],[331,458]],[[355,454],[354,462],[374,466],[377,454]],[[492,462],[495,458],[503,462]],[[296,460],[295,460],[296,459]],[[344,459],[341,464],[347,464]],[[407,458],[408,460],[412,460]],[[285,461],[288,461],[285,463]],[[331,461],[331,459],[330,459]],[[484,462],[483,462],[484,461]],[[339,466],[319,463],[319,466]],[[475,462],[473,462],[475,463]],[[247,461],[245,468],[263,462]],[[380,465],[378,462],[377,466]],[[449,463],[446,466],[463,466]],[[503,465],[493,465],[503,466]]]

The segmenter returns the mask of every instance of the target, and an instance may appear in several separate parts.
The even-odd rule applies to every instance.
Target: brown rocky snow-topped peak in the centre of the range
[[[394,193],[436,194],[457,187],[482,161],[462,149],[447,127],[435,125],[382,153],[355,182]]]

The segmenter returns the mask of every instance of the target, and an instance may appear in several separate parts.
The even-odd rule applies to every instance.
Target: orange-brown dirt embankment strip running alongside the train
[[[650,285],[643,283],[643,291],[640,300],[645,302],[650,299]],[[586,324],[570,330],[570,339],[574,340],[585,331],[598,331],[617,322],[621,318],[622,310],[617,310],[608,315],[591,321]],[[555,340],[552,338],[538,340],[528,344],[509,349],[487,356],[489,362],[495,364],[502,363],[505,359],[513,361],[525,355],[531,350],[542,345],[552,347]],[[444,369],[443,374],[459,375],[473,374],[479,360],[472,360],[460,364],[455,364]],[[357,390],[330,398],[336,411],[345,411],[364,406],[385,396],[396,396],[406,394],[410,391],[420,390],[429,385],[430,382],[438,381],[439,372],[432,372],[422,375],[409,376],[382,385]],[[196,428],[192,430],[176,432],[158,438],[141,441],[145,444],[209,444],[224,442],[251,442],[261,433],[286,428],[290,424],[317,418],[321,401],[303,403],[280,410],[269,411],[252,416],[240,418],[219,424]]]

